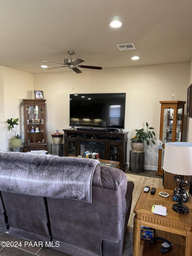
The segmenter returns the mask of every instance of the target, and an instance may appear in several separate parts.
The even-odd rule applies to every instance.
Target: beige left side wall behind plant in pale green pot
[[[19,125],[17,133],[22,136],[24,144],[24,122],[23,122],[23,104],[22,99],[34,98],[33,91],[33,75],[19,71],[13,68],[0,67],[0,92],[2,95],[2,103],[4,105],[1,110],[3,114],[0,115],[0,138],[4,138],[0,150],[9,151],[10,139],[13,137],[7,129],[5,122],[10,118],[19,118]]]

